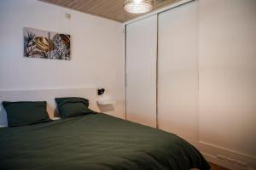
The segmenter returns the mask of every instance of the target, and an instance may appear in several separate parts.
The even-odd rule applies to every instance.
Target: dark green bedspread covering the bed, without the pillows
[[[191,144],[113,116],[94,114],[0,128],[0,169],[209,169]]]

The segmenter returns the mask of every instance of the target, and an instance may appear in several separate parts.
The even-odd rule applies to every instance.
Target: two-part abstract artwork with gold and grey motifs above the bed
[[[24,28],[24,56],[70,60],[70,35]]]

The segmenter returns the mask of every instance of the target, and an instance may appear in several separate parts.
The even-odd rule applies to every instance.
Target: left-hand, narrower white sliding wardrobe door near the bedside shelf
[[[126,26],[126,118],[156,127],[157,16]]]

